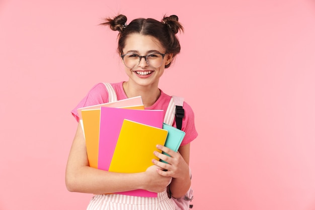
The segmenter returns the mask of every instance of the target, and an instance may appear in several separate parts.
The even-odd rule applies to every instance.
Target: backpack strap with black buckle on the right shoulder
[[[168,125],[173,125],[175,117],[176,127],[181,130],[185,113],[183,109],[183,104],[184,104],[183,97],[173,95],[165,114],[164,123]]]

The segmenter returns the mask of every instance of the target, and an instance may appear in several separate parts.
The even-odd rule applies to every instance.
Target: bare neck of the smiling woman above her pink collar
[[[161,91],[157,86],[134,86],[131,85],[130,82],[124,82],[123,88],[128,98],[140,95],[144,107],[152,106],[161,95]]]

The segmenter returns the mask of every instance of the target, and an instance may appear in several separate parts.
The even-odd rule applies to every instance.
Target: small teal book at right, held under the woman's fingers
[[[174,128],[173,126],[170,126],[166,123],[163,123],[163,129],[168,131],[168,136],[166,138],[164,146],[177,152],[184,137],[185,137],[185,132],[182,130],[179,130],[177,128]],[[170,156],[169,154],[167,154],[165,152],[163,152],[163,154]],[[165,162],[164,160],[161,160],[161,161]],[[165,163],[167,163],[167,162],[165,162]]]

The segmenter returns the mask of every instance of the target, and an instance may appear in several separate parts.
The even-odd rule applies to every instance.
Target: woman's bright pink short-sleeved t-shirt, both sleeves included
[[[111,83],[113,88],[116,91],[117,99],[126,99],[128,98],[124,89],[123,89],[123,81],[119,83]],[[161,90],[160,97],[155,101],[155,103],[151,107],[146,107],[146,110],[164,110],[164,115],[166,113],[166,110],[169,106],[169,102],[171,100],[171,96],[165,94]],[[108,102],[108,91],[107,88],[103,83],[96,84],[89,92],[88,94],[80,101],[80,103],[77,104],[77,106],[72,110],[72,115],[76,119],[76,121],[79,120],[77,115],[77,109],[83,108],[83,107],[89,107],[101,103],[107,103]],[[197,136],[198,133],[195,128],[195,117],[194,112],[191,109],[191,107],[184,102],[183,109],[185,110],[185,115],[183,118],[183,124],[182,124],[182,130],[186,133],[183,142],[181,146],[184,146],[191,141],[193,141]],[[175,121],[173,122],[173,126],[175,126]]]

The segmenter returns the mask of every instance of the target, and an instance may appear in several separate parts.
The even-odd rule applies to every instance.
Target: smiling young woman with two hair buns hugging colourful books
[[[135,19],[126,25],[127,18],[119,15],[106,19],[109,25],[119,31],[118,53],[125,65],[128,81],[112,83],[117,99],[141,95],[145,109],[167,110],[171,96],[159,89],[159,79],[174,57],[180,52],[176,36],[183,27],[178,17],[173,15],[163,20]],[[96,84],[80,103],[72,115],[78,121],[77,109],[108,102],[108,91],[103,83]],[[152,160],[152,166],[141,173],[114,173],[89,167],[83,129],[78,123],[68,162],[65,182],[67,189],[74,192],[93,193],[88,209],[175,209],[171,196],[180,198],[190,187],[189,154],[190,142],[197,137],[194,113],[184,102],[185,116],[182,130],[185,138],[174,152],[162,145],[157,149],[169,154],[154,152],[157,158],[169,164]],[[175,125],[175,122],[173,123]],[[156,198],[115,194],[115,192],[145,189],[157,192]]]

